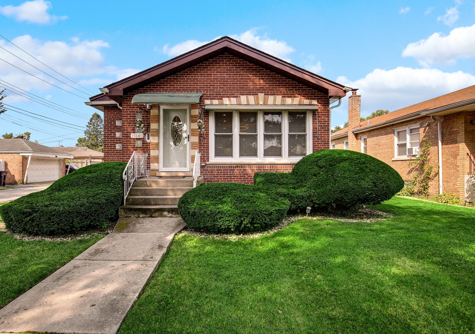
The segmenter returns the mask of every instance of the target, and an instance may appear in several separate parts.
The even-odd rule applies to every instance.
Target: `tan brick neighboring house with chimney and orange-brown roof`
[[[426,136],[432,143],[431,162],[439,164],[429,193],[455,193],[461,200],[474,201],[469,174],[475,159],[475,86],[362,122],[360,95],[354,93],[349,98],[348,127],[332,134],[332,148],[368,153],[409,180],[408,163]]]

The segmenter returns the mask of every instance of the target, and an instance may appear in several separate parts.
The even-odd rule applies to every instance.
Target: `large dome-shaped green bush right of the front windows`
[[[349,150],[309,154],[295,164],[292,174],[302,188],[306,187],[314,207],[323,210],[378,204],[404,187],[401,176],[390,165]]]

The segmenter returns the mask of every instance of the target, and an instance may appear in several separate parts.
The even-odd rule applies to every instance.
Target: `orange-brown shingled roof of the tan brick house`
[[[433,99],[409,105],[408,107],[392,111],[385,115],[362,121],[360,127],[352,130],[353,133],[360,133],[376,127],[403,122],[409,118],[417,118],[424,115],[447,115],[464,110],[475,109],[475,85],[457,90],[446,95],[437,96]],[[348,128],[343,128],[334,132],[332,138],[338,138],[348,133]]]

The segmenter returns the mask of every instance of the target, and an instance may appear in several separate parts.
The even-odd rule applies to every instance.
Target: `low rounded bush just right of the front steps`
[[[289,201],[250,184],[204,183],[178,202],[181,218],[193,229],[237,233],[270,229],[281,222]]]

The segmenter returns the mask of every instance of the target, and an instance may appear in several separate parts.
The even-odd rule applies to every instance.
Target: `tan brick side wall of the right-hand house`
[[[442,122],[442,183],[443,192],[455,193],[461,200],[465,197],[464,177],[468,172],[468,158],[466,153],[475,152],[475,125],[469,124],[475,119],[475,111],[460,112],[445,116],[436,116]],[[428,122],[427,126],[423,126]],[[432,143],[430,150],[430,162],[438,163],[438,128],[437,121],[430,116],[401,122],[395,125],[385,126],[379,129],[357,134],[358,143],[361,136],[368,136],[368,154],[388,163],[399,172],[404,180],[410,180],[408,163],[414,158],[395,158],[394,153],[394,130],[413,124],[420,124],[419,138],[427,136]],[[347,137],[338,138],[335,148],[342,148],[343,140]],[[361,146],[356,150],[361,152]],[[435,168],[438,171],[438,168]],[[438,176],[431,182],[429,193],[435,195],[439,192]]]

